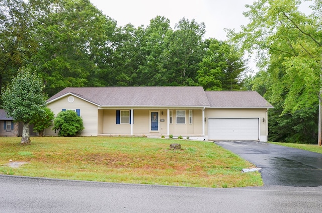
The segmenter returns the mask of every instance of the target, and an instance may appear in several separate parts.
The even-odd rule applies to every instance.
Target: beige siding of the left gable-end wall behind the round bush
[[[70,96],[70,95],[69,95]],[[52,103],[48,104],[48,108],[53,111],[55,116],[61,112],[62,109],[67,110],[81,110],[81,118],[83,119],[84,130],[82,131],[82,136],[97,136],[98,134],[98,107],[95,104],[87,102],[81,98],[74,96],[74,101],[69,102],[68,97],[62,97]],[[45,136],[55,136],[57,135],[49,127],[45,131]]]

